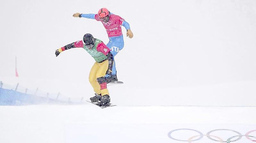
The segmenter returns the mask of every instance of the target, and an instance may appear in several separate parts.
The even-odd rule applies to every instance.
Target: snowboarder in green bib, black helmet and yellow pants
[[[84,35],[83,40],[73,42],[63,46],[55,51],[58,56],[61,52],[70,48],[84,48],[96,61],[91,68],[89,74],[89,82],[91,83],[95,96],[91,97],[91,102],[99,101],[101,106],[110,103],[109,91],[107,89],[107,82],[105,75],[112,73],[113,55],[111,50],[100,40],[94,38],[91,34]]]

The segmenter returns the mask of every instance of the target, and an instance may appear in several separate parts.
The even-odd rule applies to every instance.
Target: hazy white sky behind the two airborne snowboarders
[[[133,39],[124,37],[124,49],[116,56],[118,79],[126,88],[255,82],[254,0],[4,1],[0,80],[72,97],[92,95],[88,74],[93,58],[83,49],[65,51],[57,58],[54,52],[85,33],[107,44],[100,22],[72,17],[75,12],[97,13],[101,7],[124,18],[134,33]],[[117,88],[111,90],[124,92]]]

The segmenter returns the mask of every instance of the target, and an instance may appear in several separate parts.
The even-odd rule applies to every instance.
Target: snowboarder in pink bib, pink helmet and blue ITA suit
[[[122,50],[124,47],[124,39],[121,26],[124,26],[126,28],[126,36],[129,36],[129,38],[133,37],[133,33],[130,29],[130,25],[128,24],[128,22],[126,22],[120,16],[109,12],[106,8],[101,8],[98,11],[98,14],[74,13],[73,17],[83,17],[101,21],[109,37],[109,42],[106,46],[111,50],[110,52],[113,54],[113,56],[117,55],[119,51]],[[107,83],[118,81],[116,76],[115,61],[111,75],[105,75],[105,77],[107,79]]]

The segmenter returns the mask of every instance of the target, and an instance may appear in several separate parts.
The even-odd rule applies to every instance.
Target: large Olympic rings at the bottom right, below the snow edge
[[[199,133],[199,135],[192,136],[192,137],[190,137],[188,140],[175,139],[175,138],[173,138],[173,137],[171,136],[171,134],[172,134],[173,132],[175,132],[175,131],[178,131],[178,130],[190,130],[190,131],[194,131],[194,132]],[[232,132],[237,133],[238,135],[232,136],[232,137],[228,138],[226,141],[224,141],[224,140],[221,139],[220,137],[217,137],[217,136],[215,136],[215,135],[210,135],[212,132],[215,132],[215,131],[232,131]],[[229,130],[229,129],[216,129],[216,130],[211,130],[210,132],[207,132],[207,133],[204,135],[202,132],[197,131],[197,130],[194,130],[194,129],[175,129],[175,130],[172,130],[172,131],[170,131],[170,132],[168,133],[168,137],[169,137],[170,139],[173,139],[173,140],[187,141],[187,142],[189,142],[189,143],[192,143],[193,141],[200,140],[200,139],[202,139],[204,136],[206,136],[207,138],[209,138],[209,139],[211,139],[211,140],[214,140],[214,141],[217,141],[217,142],[227,142],[227,143],[230,143],[230,142],[235,142],[235,141],[237,141],[237,140],[239,140],[239,139],[241,139],[242,137],[245,136],[247,139],[256,142],[256,137],[249,135],[251,132],[255,132],[255,131],[256,131],[256,130],[252,130],[252,131],[247,132],[245,135],[242,135],[240,132],[237,132],[237,131],[234,131],[234,130]],[[198,137],[198,138],[197,138],[197,137]],[[217,138],[217,139],[219,139],[219,140],[213,139],[212,137]],[[237,138],[237,139],[233,139],[233,138],[236,138],[236,137],[238,137],[238,138]],[[194,138],[197,138],[197,139],[194,139]],[[252,139],[252,138],[254,138],[254,139]],[[193,139],[194,139],[194,140],[193,140]],[[232,139],[233,139],[233,140],[232,140]]]

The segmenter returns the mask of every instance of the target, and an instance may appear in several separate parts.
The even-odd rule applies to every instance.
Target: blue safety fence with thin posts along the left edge
[[[23,91],[24,93],[22,93]],[[33,94],[32,94],[33,93]],[[28,90],[0,82],[0,105],[35,105],[35,104],[82,104],[83,97],[73,98],[62,96],[60,93],[49,94],[40,90]]]

